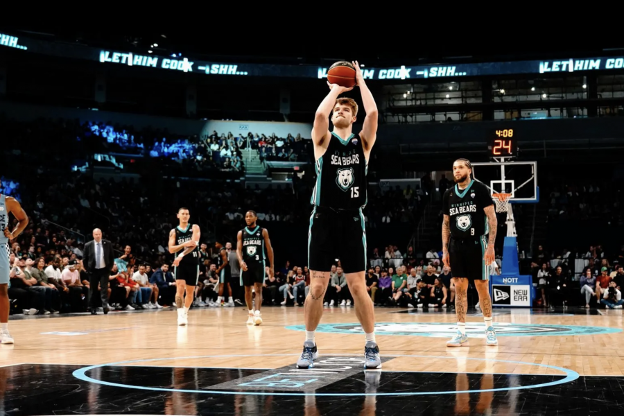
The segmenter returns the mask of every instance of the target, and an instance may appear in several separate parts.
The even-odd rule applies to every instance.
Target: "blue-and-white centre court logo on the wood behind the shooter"
[[[600,333],[622,332],[619,328],[607,327],[580,327],[575,325],[548,325],[548,324],[511,324],[508,322],[494,322],[497,336],[569,336],[569,335],[596,335]],[[305,331],[304,325],[286,327],[292,331]],[[317,332],[324,333],[364,333],[358,323],[351,324],[320,324]],[[447,338],[457,333],[454,322],[381,322],[375,324],[376,335],[399,336],[427,336]],[[482,322],[466,322],[466,333],[470,337],[485,338]]]

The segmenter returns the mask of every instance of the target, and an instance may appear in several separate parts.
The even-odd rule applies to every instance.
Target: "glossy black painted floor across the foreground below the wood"
[[[73,372],[80,368],[73,365],[39,364],[0,367],[0,415],[404,416],[588,415],[600,412],[616,415],[624,411],[622,377],[586,376],[569,383],[517,390],[519,386],[560,381],[563,376],[365,373],[356,370],[336,376],[335,381],[324,383],[314,390],[310,390],[309,386],[295,385],[291,388],[274,388],[274,394],[271,394],[268,389],[249,387],[253,383],[248,383],[247,387],[241,384],[243,381],[275,374],[276,370],[107,366],[86,372],[93,379],[143,387],[137,390],[77,379]],[[284,371],[286,368],[278,370]],[[293,381],[290,373],[288,377]],[[245,380],[241,380],[243,378]],[[275,377],[272,380],[276,380]],[[278,376],[277,381],[280,380],[284,381],[284,376]],[[232,385],[241,387],[232,388]],[[154,388],[212,392],[170,392]],[[456,393],[458,390],[496,388],[512,390]],[[237,393],[229,394],[229,390]],[[226,394],[216,394],[216,391]],[[262,391],[267,394],[254,394]],[[275,395],[276,392],[291,395]],[[397,392],[424,394],[394,395]],[[320,396],[328,393],[337,396]],[[393,395],[381,395],[383,393]],[[362,394],[368,396],[352,396]]]

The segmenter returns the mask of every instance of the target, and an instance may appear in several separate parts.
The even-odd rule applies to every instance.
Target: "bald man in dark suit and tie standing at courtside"
[[[89,308],[92,315],[97,315],[96,291],[100,291],[104,313],[108,313],[108,281],[110,271],[114,266],[114,253],[112,244],[102,239],[102,230],[93,230],[93,240],[85,244],[83,251],[83,265],[89,275]],[[98,289],[98,286],[100,288]]]

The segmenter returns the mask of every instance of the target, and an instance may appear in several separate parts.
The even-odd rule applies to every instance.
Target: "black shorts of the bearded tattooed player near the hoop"
[[[470,281],[489,280],[489,265],[485,264],[485,236],[476,240],[456,240],[451,238],[449,257],[453,277],[464,277]]]

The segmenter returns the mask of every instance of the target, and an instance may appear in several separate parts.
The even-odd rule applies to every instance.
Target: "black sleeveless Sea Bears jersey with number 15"
[[[359,209],[366,205],[368,161],[358,135],[343,140],[332,132],[329,146],[316,161],[315,169],[312,205],[333,209]]]

